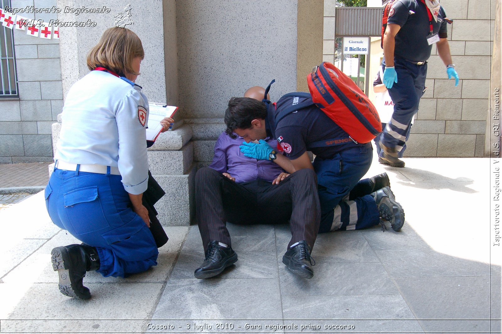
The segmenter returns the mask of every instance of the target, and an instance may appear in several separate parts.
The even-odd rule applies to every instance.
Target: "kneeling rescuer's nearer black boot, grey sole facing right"
[[[383,220],[390,221],[394,231],[401,230],[405,224],[405,211],[401,204],[396,202],[396,196],[394,196],[391,188],[385,187],[376,190],[371,196],[375,199],[380,217]]]

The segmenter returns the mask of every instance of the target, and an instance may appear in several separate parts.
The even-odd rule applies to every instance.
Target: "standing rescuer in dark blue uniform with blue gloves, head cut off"
[[[433,44],[446,65],[448,79],[455,78],[455,86],[458,85],[447,40],[447,21],[451,23],[438,0],[398,0],[389,12],[382,67],[383,82],[394,101],[394,114],[381,136],[381,163],[405,166],[398,155],[424,92]]]

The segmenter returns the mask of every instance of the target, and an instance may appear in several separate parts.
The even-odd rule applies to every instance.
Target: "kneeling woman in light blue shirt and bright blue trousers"
[[[134,32],[110,28],[87,55],[91,71],[66,96],[45,198],[54,224],[83,242],[52,250],[59,290],[70,297],[90,298],[86,271],[126,277],[157,265],[142,204],[149,109],[134,81],[143,58]]]

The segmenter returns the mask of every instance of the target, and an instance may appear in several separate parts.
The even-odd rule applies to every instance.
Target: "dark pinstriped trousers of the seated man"
[[[204,251],[217,240],[231,246],[226,221],[234,224],[283,224],[288,222],[288,247],[305,240],[312,248],[319,230],[316,176],[300,169],[279,184],[257,179],[235,183],[209,167],[195,175],[197,221]]]

